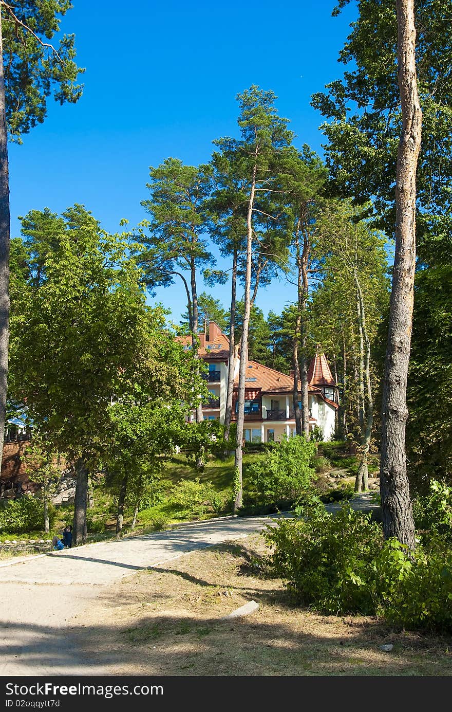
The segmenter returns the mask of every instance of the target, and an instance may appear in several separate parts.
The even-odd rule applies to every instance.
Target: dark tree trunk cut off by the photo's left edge
[[[6,129],[6,100],[0,13],[0,463],[3,458],[6,394],[8,392],[9,229],[8,131]]]

